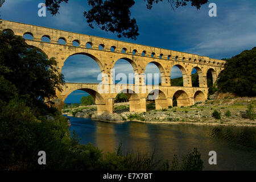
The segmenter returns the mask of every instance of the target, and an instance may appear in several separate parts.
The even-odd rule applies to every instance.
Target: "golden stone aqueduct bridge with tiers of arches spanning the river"
[[[225,61],[210,59],[209,57],[194,55],[191,53],[171,51],[168,49],[143,46],[118,40],[99,38],[84,34],[77,34],[68,31],[56,30],[34,26],[30,24],[10,22],[3,20],[0,25],[2,30],[13,31],[15,35],[23,36],[30,34],[33,40],[26,40],[27,44],[40,48],[48,57],[55,57],[57,68],[61,72],[65,60],[69,56],[82,54],[91,57],[96,61],[105,78],[102,78],[105,85],[109,86],[109,93],[99,93],[98,84],[86,83],[66,83],[63,92],[57,93],[58,99],[55,106],[62,108],[65,98],[74,90],[84,90],[91,94],[97,105],[98,113],[113,113],[114,100],[120,90],[110,92],[113,86],[111,69],[114,68],[115,61],[125,59],[133,66],[134,72],[141,76],[139,89],[144,86],[144,71],[148,63],[154,63],[161,73],[162,85],[159,86],[159,97],[156,98],[156,109],[172,106],[172,98],[177,99],[177,106],[193,105],[197,101],[207,99],[207,72],[212,72],[213,82],[218,74],[224,69]],[[47,37],[50,42],[43,42],[42,38]],[[65,40],[65,45],[59,44],[59,39]],[[73,41],[79,46],[72,46]],[[90,48],[86,45],[90,44]],[[103,49],[99,49],[99,46]],[[122,52],[125,50],[125,53]],[[180,68],[183,75],[183,86],[171,86],[170,71],[174,66]],[[199,87],[192,87],[191,71],[195,68],[199,74]],[[146,111],[146,100],[150,90],[146,93],[134,93],[135,85],[128,86],[130,93],[127,97],[130,102],[130,111]],[[125,89],[125,90],[127,90]],[[154,90],[151,89],[151,90]]]

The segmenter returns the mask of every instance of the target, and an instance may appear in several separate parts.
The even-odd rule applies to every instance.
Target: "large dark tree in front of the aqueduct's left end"
[[[39,112],[40,108],[46,108],[46,102],[51,104],[52,98],[56,98],[56,90],[61,91],[64,84],[56,64],[55,59],[48,59],[40,49],[28,46],[21,36],[0,31],[1,81],[13,85],[19,98],[26,100],[27,106],[38,107]],[[6,89],[9,88],[6,86]],[[6,98],[1,100],[8,102]]]

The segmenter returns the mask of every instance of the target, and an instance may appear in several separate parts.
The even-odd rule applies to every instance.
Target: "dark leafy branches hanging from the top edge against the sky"
[[[163,0],[144,0],[147,9],[152,9],[156,3]],[[190,2],[191,6],[195,6],[197,10],[208,0],[167,0],[170,7],[174,9],[180,6],[187,6]],[[60,4],[68,0],[45,0],[47,10],[52,15],[59,13]],[[91,7],[89,11],[84,11],[84,17],[89,27],[94,28],[93,23],[100,27],[101,30],[110,31],[117,34],[118,38],[122,36],[136,40],[139,35],[138,25],[135,18],[131,18],[131,7],[135,4],[134,0],[88,0],[88,5]]]

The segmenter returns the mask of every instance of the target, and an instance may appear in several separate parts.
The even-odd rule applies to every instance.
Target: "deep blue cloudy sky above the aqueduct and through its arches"
[[[151,10],[146,2],[135,1],[131,8],[131,18],[136,18],[139,27],[137,40],[117,38],[111,32],[90,28],[83,17],[89,10],[86,1],[69,0],[61,4],[59,14],[52,16],[47,11],[46,17],[38,16],[38,4],[43,0],[6,0],[0,8],[2,19],[56,28],[122,40],[146,46],[160,47],[174,51],[195,53],[213,59],[230,58],[245,49],[256,46],[256,1],[255,0],[218,0],[217,16],[210,17],[209,3],[200,10],[190,5],[172,10],[167,1],[155,4]],[[134,73],[131,65],[125,60],[115,63],[115,73]],[[154,64],[148,64],[146,73],[159,73]],[[87,56],[69,57],[62,73],[66,82],[99,82],[100,69],[97,63]],[[171,78],[180,77],[179,68],[171,70]],[[73,92],[65,102],[80,102],[82,91]]]

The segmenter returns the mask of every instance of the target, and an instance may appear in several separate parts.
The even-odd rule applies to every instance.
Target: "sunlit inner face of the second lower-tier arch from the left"
[[[121,92],[124,93],[129,100],[130,112],[138,111],[141,109],[141,103],[139,101],[139,96],[137,93],[134,92],[134,90],[123,89],[123,90],[121,90]],[[121,93],[121,92],[119,92],[119,93]],[[115,97],[117,97],[117,94]]]

